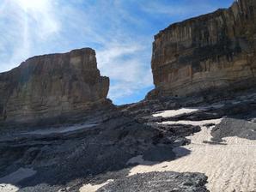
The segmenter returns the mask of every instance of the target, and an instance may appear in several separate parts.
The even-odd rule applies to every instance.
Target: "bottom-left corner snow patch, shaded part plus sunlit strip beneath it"
[[[19,183],[21,180],[27,177],[32,177],[36,171],[33,169],[20,168],[15,172],[10,173],[5,177],[0,178],[0,192],[15,192],[19,188],[14,184]]]

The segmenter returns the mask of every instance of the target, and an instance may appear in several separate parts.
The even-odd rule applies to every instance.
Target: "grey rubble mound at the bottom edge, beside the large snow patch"
[[[96,192],[114,191],[198,191],[206,189],[207,177],[200,173],[178,173],[173,171],[149,172],[135,176],[119,178],[108,183]]]

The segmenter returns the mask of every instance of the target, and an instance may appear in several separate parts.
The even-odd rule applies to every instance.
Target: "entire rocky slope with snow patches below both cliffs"
[[[0,191],[253,191],[255,99],[145,100],[75,125],[5,130]]]

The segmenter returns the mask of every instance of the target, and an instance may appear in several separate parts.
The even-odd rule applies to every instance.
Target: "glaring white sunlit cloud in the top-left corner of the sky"
[[[40,50],[40,41],[58,33],[60,25],[55,17],[53,1],[50,0],[5,0],[0,15],[0,71],[12,69],[35,50]],[[8,52],[7,52],[8,51]]]

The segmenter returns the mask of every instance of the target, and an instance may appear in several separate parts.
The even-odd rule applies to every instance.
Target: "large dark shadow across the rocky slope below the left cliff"
[[[36,173],[15,182],[9,177],[9,183],[20,191],[57,191],[67,186],[69,191],[77,191],[97,176],[104,176],[103,180],[108,179],[107,173],[111,178],[126,176],[131,168],[127,162],[138,155],[155,163],[172,160],[173,144],[174,135],[166,137],[154,126],[115,114],[88,129],[0,141],[0,177],[22,167]]]

